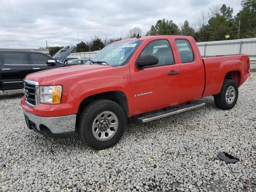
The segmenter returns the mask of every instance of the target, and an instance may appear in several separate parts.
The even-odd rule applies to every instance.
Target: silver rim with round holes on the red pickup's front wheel
[[[112,111],[104,111],[92,123],[92,133],[100,141],[111,139],[118,130],[118,118]]]

